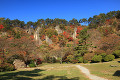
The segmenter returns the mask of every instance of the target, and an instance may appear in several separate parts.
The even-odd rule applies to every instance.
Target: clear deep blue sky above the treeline
[[[120,10],[120,0],[0,0],[0,17],[37,21],[60,18],[77,20]]]

